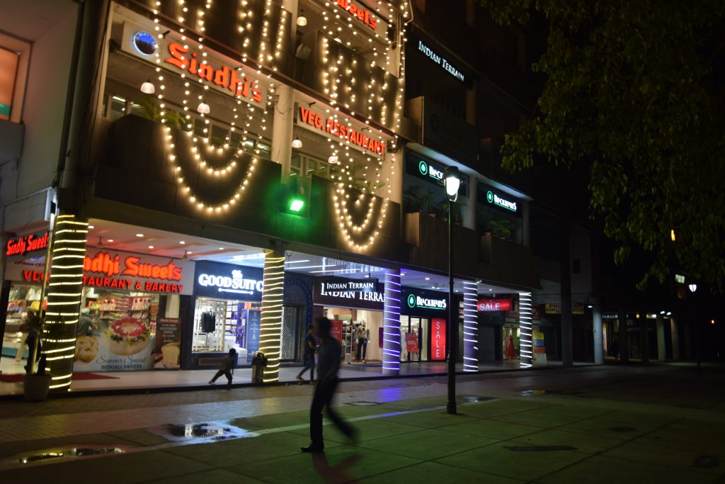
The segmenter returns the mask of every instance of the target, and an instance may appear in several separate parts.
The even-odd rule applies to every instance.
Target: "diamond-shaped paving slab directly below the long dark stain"
[[[588,454],[576,451],[517,452],[509,450],[507,446],[512,444],[494,443],[434,462],[484,474],[533,481],[588,457]]]

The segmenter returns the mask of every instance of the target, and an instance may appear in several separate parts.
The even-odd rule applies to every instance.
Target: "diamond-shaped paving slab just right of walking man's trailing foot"
[[[450,454],[470,451],[473,448],[487,446],[497,440],[480,435],[465,435],[438,429],[423,429],[418,432],[394,435],[388,438],[367,440],[357,446],[372,448],[391,455],[412,457],[430,461]]]

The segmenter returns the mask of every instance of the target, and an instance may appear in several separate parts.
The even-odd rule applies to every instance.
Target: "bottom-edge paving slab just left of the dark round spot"
[[[697,469],[678,469],[644,462],[592,456],[534,480],[536,484],[642,484],[715,482],[712,475]]]

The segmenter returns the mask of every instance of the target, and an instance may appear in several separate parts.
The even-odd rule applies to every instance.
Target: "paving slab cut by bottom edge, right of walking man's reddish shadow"
[[[357,481],[360,484],[389,483],[486,483],[520,484],[524,481],[496,475],[484,474],[468,469],[454,469],[438,462],[421,462],[385,474],[365,477]]]

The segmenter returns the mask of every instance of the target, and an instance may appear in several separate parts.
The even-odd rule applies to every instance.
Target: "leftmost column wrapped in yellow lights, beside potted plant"
[[[83,287],[88,222],[73,215],[56,218],[48,279],[48,308],[43,324],[43,354],[51,390],[70,388],[75,356],[75,328]],[[42,302],[41,302],[42,304]]]

